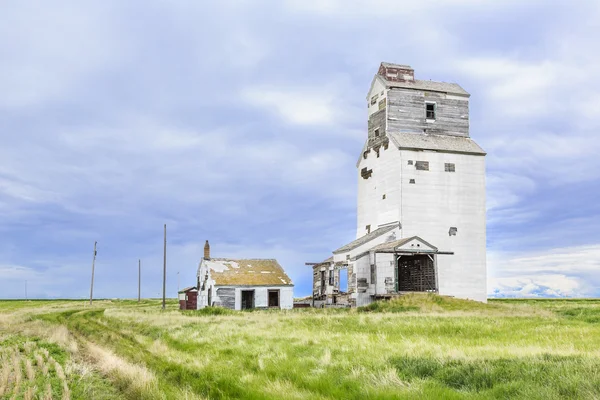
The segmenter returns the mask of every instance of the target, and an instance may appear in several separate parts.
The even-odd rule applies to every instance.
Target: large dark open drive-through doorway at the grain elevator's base
[[[433,259],[428,255],[400,256],[396,269],[396,291],[437,291]]]

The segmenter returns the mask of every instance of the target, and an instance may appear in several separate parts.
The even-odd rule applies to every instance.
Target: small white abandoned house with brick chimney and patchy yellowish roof
[[[294,284],[277,260],[211,258],[207,240],[198,266],[198,309],[207,306],[291,309]]]

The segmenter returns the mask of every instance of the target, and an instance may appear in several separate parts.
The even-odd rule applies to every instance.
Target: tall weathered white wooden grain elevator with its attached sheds
[[[356,163],[356,240],[313,268],[313,305],[363,306],[405,292],[485,302],[485,155],[469,93],[381,63]]]

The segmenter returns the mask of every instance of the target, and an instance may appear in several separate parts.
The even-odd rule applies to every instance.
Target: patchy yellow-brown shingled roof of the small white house
[[[274,259],[211,258],[201,263],[210,269],[215,286],[293,286]]]

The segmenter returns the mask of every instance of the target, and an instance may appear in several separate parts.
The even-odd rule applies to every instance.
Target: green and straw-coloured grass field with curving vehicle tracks
[[[0,301],[0,398],[600,398],[600,300],[176,307]]]

